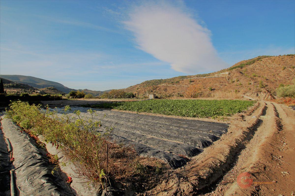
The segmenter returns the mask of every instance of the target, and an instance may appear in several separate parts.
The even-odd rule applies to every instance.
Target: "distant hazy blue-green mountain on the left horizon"
[[[66,86],[63,86],[62,84],[58,82],[53,82],[49,80],[44,80],[41,78],[36,78],[32,76],[22,76],[22,75],[0,75],[0,78],[3,78],[3,83],[23,83],[27,84],[29,86],[39,88],[41,91],[45,92],[55,92],[55,93],[61,93],[60,91],[64,93],[69,93],[70,91],[77,91],[76,89],[73,88],[68,88]],[[53,89],[53,88],[55,89]],[[93,96],[99,96],[104,93],[104,91],[91,91],[88,89],[80,90],[79,91],[84,91],[85,93],[90,93]]]

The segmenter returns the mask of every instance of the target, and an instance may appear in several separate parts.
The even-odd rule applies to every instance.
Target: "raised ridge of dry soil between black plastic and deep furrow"
[[[174,170],[170,179],[160,183],[147,195],[199,195],[208,192],[207,188],[216,185],[220,177],[231,169],[245,140],[250,140],[253,135],[253,129],[259,122],[257,116],[265,110],[265,103],[260,102],[248,111],[230,117],[227,121],[230,123],[228,132],[220,140],[193,157],[185,167]]]

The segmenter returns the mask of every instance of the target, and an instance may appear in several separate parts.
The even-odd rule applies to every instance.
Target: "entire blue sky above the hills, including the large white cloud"
[[[76,89],[295,53],[295,1],[0,1],[0,74]]]

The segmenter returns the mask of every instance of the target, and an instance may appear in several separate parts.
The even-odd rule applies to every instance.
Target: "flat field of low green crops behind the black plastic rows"
[[[92,105],[92,108],[112,108],[135,112],[209,118],[229,116],[252,106],[254,101],[245,100],[146,100],[114,102]]]

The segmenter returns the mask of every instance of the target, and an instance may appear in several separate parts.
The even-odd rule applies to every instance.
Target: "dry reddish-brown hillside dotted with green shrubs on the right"
[[[274,91],[280,84],[291,84],[295,77],[294,66],[295,55],[258,56],[217,72],[150,80],[123,90],[138,95],[155,93],[164,98],[183,97],[194,85],[200,97],[218,98],[221,92],[235,92],[261,98],[265,95],[264,87]]]

